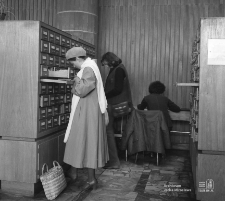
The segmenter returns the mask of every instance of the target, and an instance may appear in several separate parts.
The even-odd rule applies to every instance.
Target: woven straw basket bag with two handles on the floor
[[[44,173],[45,166],[47,167],[47,172]],[[48,170],[48,166],[45,163],[40,176],[48,200],[55,199],[67,186],[62,167],[57,161],[53,161],[53,166],[53,168]]]

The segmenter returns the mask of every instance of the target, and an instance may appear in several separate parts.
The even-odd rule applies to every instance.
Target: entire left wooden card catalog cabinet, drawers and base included
[[[76,73],[66,51],[82,46],[94,58],[95,50],[40,21],[1,21],[0,30],[1,188],[32,195],[42,165],[63,161]]]

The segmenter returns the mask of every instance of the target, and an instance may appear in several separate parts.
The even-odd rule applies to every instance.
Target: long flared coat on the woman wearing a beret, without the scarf
[[[108,145],[104,114],[101,113],[97,79],[90,67],[82,78],[76,78],[73,90],[80,97],[70,135],[66,143],[64,162],[76,168],[99,168],[108,161]]]

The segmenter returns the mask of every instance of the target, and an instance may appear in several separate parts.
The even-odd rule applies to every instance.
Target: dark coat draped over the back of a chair
[[[122,149],[128,154],[140,151],[165,153],[171,147],[169,131],[161,111],[133,109],[122,135]]]

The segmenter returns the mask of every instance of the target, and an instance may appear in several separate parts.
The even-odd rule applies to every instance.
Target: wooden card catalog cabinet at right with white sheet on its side
[[[225,18],[202,18],[192,45],[190,156],[197,200],[225,200]]]

